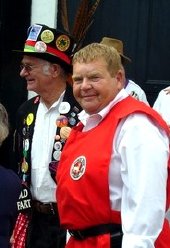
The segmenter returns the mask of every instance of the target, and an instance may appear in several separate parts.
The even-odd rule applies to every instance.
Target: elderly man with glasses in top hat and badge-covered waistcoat
[[[52,248],[65,246],[60,229],[55,191],[55,172],[65,144],[62,130],[77,124],[81,107],[67,83],[75,43],[70,35],[35,24],[21,54],[20,76],[27,90],[37,95],[17,113],[15,157],[23,183],[18,201],[19,216],[13,247]],[[23,228],[21,228],[23,227]],[[28,227],[28,228],[27,228]]]

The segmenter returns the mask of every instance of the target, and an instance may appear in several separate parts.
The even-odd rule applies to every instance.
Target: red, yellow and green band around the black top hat
[[[43,41],[27,40],[25,43],[24,52],[49,53],[61,58],[67,64],[71,63],[71,59],[66,54],[50,46],[47,46]]]

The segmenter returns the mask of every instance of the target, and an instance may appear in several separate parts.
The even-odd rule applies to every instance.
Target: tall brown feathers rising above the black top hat
[[[81,0],[75,13],[72,29],[70,29],[68,20],[67,0],[60,0],[62,26],[65,31],[70,33],[75,38],[77,44],[76,50],[78,50],[82,46],[87,31],[94,21],[93,16],[99,5],[100,0],[95,0],[94,3],[91,2],[92,1],[90,0]]]

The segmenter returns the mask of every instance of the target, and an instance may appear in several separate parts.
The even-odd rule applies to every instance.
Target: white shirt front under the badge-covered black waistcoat
[[[56,184],[50,175],[49,163],[63,95],[49,109],[40,101],[36,115],[31,150],[31,193],[33,199],[44,203],[56,202]]]

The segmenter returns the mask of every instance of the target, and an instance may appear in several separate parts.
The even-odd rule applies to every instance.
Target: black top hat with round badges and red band
[[[75,42],[69,34],[44,24],[34,24],[28,28],[23,51],[14,50],[14,52],[58,63],[70,72],[74,48]]]

